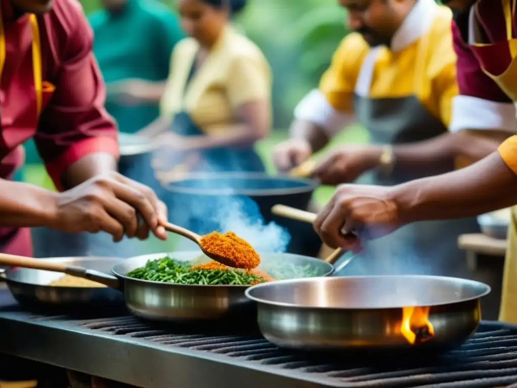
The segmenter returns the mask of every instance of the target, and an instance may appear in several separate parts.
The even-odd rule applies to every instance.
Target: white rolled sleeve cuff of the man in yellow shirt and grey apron
[[[294,110],[294,116],[296,120],[309,121],[322,127],[329,138],[354,121],[353,114],[334,109],[318,89],[303,97]]]

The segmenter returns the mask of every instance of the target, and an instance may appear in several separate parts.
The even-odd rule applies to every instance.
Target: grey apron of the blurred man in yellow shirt
[[[416,96],[373,99],[355,95],[355,114],[376,144],[404,144],[436,137],[447,128],[423,107]],[[385,178],[376,172],[356,183],[391,186],[422,177],[397,173]],[[338,275],[428,274],[465,276],[464,254],[458,236],[479,232],[475,218],[421,221],[378,240],[369,241],[362,253]]]

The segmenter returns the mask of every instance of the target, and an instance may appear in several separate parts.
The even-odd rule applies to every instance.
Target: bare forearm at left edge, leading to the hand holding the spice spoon
[[[57,193],[21,182],[0,179],[0,226],[48,226],[55,211]]]

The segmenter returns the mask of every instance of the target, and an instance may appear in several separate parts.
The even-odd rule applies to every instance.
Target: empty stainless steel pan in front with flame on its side
[[[262,334],[280,347],[405,350],[460,345],[476,331],[479,300],[489,292],[472,280],[401,275],[284,280],[246,296],[257,302]],[[427,310],[432,327],[421,319]]]

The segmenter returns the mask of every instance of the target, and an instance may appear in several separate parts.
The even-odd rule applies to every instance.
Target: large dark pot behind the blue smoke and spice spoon
[[[276,204],[307,209],[316,186],[306,178],[230,172],[193,173],[165,188],[170,193],[167,203],[171,222],[206,234],[220,229],[221,212],[227,210],[227,217],[238,219],[242,211],[251,219],[262,216],[266,223],[275,221],[286,228],[291,234],[287,252],[316,257],[321,240],[312,225],[271,213]]]

